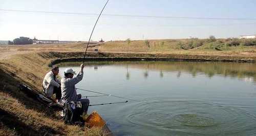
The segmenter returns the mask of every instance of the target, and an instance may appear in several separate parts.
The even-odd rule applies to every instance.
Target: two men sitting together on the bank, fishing
[[[80,71],[76,77],[75,71],[71,68],[67,68],[64,71],[65,77],[59,81],[56,76],[58,75],[58,67],[53,67],[53,69],[48,72],[43,81],[43,88],[48,97],[56,94],[56,102],[64,104],[65,102],[77,102],[80,101],[82,104],[82,110],[87,113],[89,106],[89,99],[81,98],[81,94],[77,94],[75,85],[83,78],[83,68],[84,65],[81,64]],[[61,98],[61,99],[60,99]]]

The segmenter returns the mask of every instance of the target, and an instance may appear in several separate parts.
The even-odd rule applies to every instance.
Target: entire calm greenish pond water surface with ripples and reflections
[[[60,64],[60,75],[65,68],[78,72],[79,64]],[[256,135],[253,63],[87,62],[76,87],[134,99],[89,107],[115,135]],[[89,99],[91,104],[125,101]]]

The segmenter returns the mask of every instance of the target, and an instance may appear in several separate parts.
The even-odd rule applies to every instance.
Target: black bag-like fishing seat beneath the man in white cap
[[[84,121],[81,117],[83,110],[82,104],[78,102],[66,102],[64,103],[65,123],[83,125]]]

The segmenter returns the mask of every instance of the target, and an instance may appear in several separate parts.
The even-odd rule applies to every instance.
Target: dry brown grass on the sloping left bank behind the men
[[[48,64],[58,53],[28,53],[0,62],[0,132],[6,135],[84,135],[84,128],[64,124],[54,111],[20,92],[26,83],[40,92]],[[63,53],[63,57],[65,53]],[[59,56],[58,56],[59,57]],[[0,134],[1,134],[0,133]],[[89,132],[90,133],[90,132]],[[2,135],[1,134],[1,135]]]

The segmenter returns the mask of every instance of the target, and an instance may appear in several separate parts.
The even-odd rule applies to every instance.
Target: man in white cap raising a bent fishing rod
[[[73,76],[74,74],[76,74],[75,71],[73,71],[73,69],[71,68],[65,69],[64,71],[65,77],[61,79],[61,94],[62,94],[61,99],[63,102],[80,101],[82,103],[82,108],[84,113],[87,114],[90,101],[89,99],[86,99],[86,98],[81,99],[81,94],[76,93],[76,87],[75,87],[75,85],[79,83],[79,81],[81,81],[83,77],[84,65],[81,64],[80,67],[81,67],[80,72],[74,78]]]

